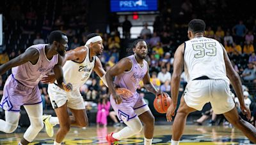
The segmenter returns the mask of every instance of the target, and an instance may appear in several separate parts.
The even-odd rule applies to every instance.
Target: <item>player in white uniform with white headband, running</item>
[[[79,92],[79,88],[90,78],[92,71],[95,71],[102,81],[107,84],[104,78],[106,72],[102,67],[100,59],[96,56],[101,55],[103,51],[102,38],[99,34],[95,33],[89,34],[87,38],[88,41],[85,46],[79,46],[65,53],[64,78],[72,83],[73,90],[65,92],[56,85],[56,82],[50,83],[48,86],[51,104],[57,117],[44,116],[47,134],[52,137],[54,125],[60,124],[54,144],[61,144],[65,135],[70,130],[70,125],[76,127],[86,127],[88,125],[84,100]],[[51,82],[51,79],[51,76],[44,78],[44,82]],[[70,109],[73,116],[68,115],[67,109]]]

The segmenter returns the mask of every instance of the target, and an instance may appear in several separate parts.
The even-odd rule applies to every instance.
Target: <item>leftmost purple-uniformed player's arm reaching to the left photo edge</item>
[[[26,62],[36,64],[37,60],[39,59],[39,56],[40,54],[38,50],[36,50],[36,48],[29,48],[28,50],[26,50],[26,52],[1,65],[0,74],[4,74],[4,72],[8,71],[12,67],[20,66],[22,64],[25,64]]]

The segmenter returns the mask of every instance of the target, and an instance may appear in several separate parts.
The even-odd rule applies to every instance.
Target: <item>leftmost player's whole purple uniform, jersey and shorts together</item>
[[[20,106],[38,104],[42,102],[38,82],[58,63],[58,55],[48,60],[45,55],[46,45],[33,45],[28,49],[36,48],[39,59],[35,65],[26,62],[12,68],[12,74],[4,84],[3,97],[0,107],[6,111],[20,111]]]

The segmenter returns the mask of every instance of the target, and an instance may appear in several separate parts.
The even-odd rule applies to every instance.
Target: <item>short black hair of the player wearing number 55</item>
[[[201,19],[193,19],[188,24],[188,30],[194,34],[205,31],[205,22]]]

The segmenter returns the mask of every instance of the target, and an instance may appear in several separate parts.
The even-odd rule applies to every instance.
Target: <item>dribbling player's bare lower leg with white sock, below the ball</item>
[[[149,145],[152,144],[152,139],[154,135],[154,124],[155,118],[150,110],[140,114],[140,120],[144,125],[144,144]]]

